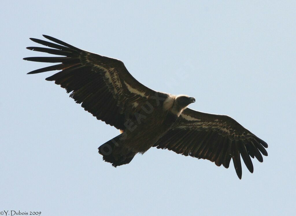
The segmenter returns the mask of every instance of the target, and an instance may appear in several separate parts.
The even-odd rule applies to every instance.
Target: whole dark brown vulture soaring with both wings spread
[[[32,41],[47,46],[27,49],[61,57],[28,57],[34,62],[60,63],[28,74],[59,70],[46,78],[71,93],[76,103],[98,120],[120,130],[102,144],[99,154],[114,167],[128,164],[137,153],[151,147],[185,156],[207,159],[228,168],[232,159],[239,179],[241,157],[253,173],[250,157],[263,162],[266,142],[227,115],[198,112],[187,106],[195,102],[187,95],[154,91],[128,72],[123,62],[78,49],[56,38]]]

